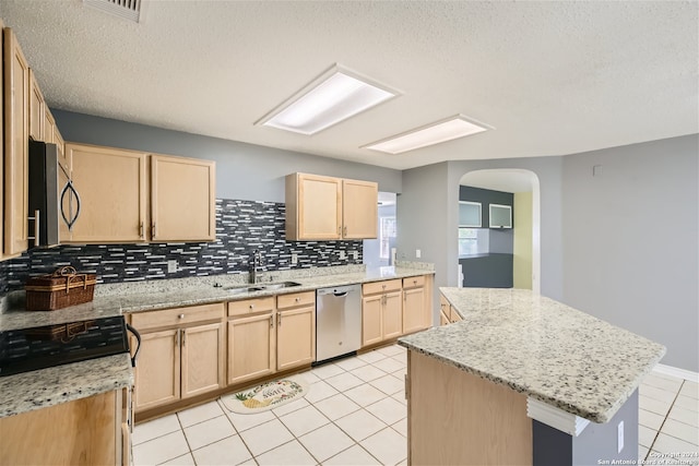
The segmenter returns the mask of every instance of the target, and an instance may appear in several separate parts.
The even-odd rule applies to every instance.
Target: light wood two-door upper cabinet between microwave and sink
[[[66,153],[81,207],[61,242],[215,239],[214,162],[73,143]]]

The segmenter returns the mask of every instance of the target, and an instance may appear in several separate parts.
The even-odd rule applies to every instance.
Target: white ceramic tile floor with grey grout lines
[[[405,350],[389,346],[296,377],[308,394],[271,411],[217,402],[137,426],[140,465],[395,465],[407,455]],[[639,458],[699,450],[698,385],[653,372],[640,387]]]

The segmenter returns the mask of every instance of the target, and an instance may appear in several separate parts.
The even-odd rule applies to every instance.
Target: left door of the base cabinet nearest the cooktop
[[[134,369],[133,403],[137,410],[180,398],[179,328],[142,333]]]

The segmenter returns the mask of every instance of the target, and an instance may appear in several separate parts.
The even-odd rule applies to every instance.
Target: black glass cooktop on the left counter
[[[0,377],[129,351],[123,315],[0,332]]]

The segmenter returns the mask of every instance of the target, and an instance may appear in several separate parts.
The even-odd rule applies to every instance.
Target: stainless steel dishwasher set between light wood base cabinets
[[[316,361],[322,362],[362,346],[362,286],[316,291]]]

